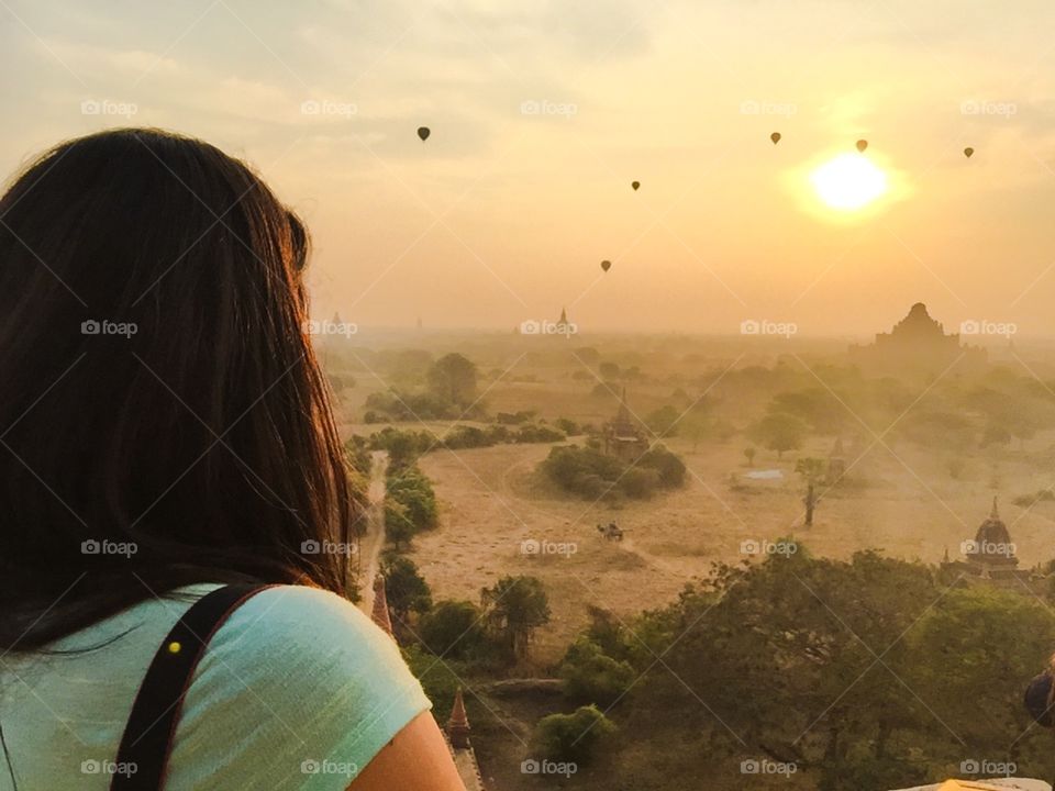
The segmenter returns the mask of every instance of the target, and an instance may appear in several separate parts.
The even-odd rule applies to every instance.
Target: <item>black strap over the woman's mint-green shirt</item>
[[[111,791],[160,791],[184,695],[216,630],[249,597],[273,586],[229,584],[195,602],[158,647],[124,726]]]

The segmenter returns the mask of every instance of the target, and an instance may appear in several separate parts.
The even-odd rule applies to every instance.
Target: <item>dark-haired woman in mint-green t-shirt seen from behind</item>
[[[0,199],[0,789],[463,788],[346,598],[307,256],[245,165],[165,132],[64,143]]]

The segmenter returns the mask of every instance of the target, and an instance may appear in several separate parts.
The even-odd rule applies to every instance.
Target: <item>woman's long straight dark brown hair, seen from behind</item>
[[[351,593],[308,248],[243,163],[156,130],[63,143],[0,198],[3,650],[196,581]]]

